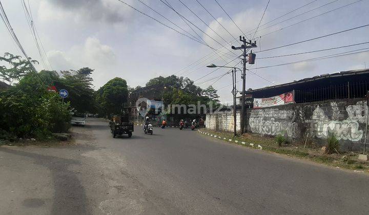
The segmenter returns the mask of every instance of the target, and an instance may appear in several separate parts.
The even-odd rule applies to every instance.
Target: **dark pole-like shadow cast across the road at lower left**
[[[80,164],[76,160],[39,155],[35,153],[0,147],[1,152],[32,158],[35,164],[50,169],[54,183],[54,199],[50,214],[87,214],[88,200],[86,193],[69,165]]]

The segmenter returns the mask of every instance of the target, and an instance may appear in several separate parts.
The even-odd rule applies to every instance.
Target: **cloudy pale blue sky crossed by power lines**
[[[29,2],[34,25],[52,69],[60,71],[90,67],[95,70],[93,78],[96,90],[114,77],[124,78],[128,85],[135,87],[145,85],[149,79],[159,75],[176,74],[196,80],[195,84],[203,89],[213,84],[213,87],[218,89],[222,102],[232,101],[232,86],[229,85],[232,83],[231,76],[224,75],[215,82],[218,79],[216,77],[220,77],[228,69],[219,68],[214,71],[206,65],[210,63],[224,65],[229,62],[227,66],[241,68],[241,63],[236,65],[240,62],[236,56],[242,53],[239,50],[232,51],[230,46],[239,46],[234,38],[237,39],[243,33],[248,38],[255,38],[258,46],[253,49],[256,53],[255,65],[247,65],[248,69],[257,75],[247,72],[246,89],[258,89],[321,74],[369,67],[369,52],[364,52],[257,69],[369,48],[369,44],[363,44],[309,54],[258,59],[369,42],[367,36],[369,27],[364,27],[293,46],[263,51],[367,25],[369,0],[270,0],[266,10],[268,0],[217,0],[240,29],[215,0],[198,0],[229,33],[196,0],[181,0],[181,2],[204,23],[179,0],[167,1],[196,27],[187,25],[176,12],[160,0],[141,0],[141,2],[155,9],[181,29],[151,11],[140,1],[124,0],[178,32],[187,34],[185,32],[187,31],[207,46],[190,39],[189,37],[192,37],[190,35],[184,36],[157,23],[117,0],[25,0],[27,4]],[[22,0],[1,0],[1,2],[26,53],[33,59],[40,60],[27,24]],[[306,5],[308,3],[311,4]],[[351,5],[345,6],[347,4]],[[293,11],[303,5],[306,6]],[[336,8],[339,9],[328,12]],[[264,10],[265,14],[261,20]],[[289,13],[290,11],[293,12]],[[283,14],[286,15],[282,16]],[[282,17],[275,19],[279,16]],[[275,20],[270,22],[273,19]],[[305,19],[308,20],[304,21]],[[260,20],[260,27],[254,36]],[[0,24],[0,38],[0,53],[22,55],[4,23]],[[219,51],[215,51],[218,49]],[[200,58],[202,60],[197,61]],[[192,63],[194,64],[191,65]],[[36,65],[36,69],[40,71],[45,68],[40,63]],[[207,76],[201,78],[204,75]],[[237,72],[237,80],[240,79],[240,75],[240,72]],[[237,83],[237,88],[241,90],[241,82]]]

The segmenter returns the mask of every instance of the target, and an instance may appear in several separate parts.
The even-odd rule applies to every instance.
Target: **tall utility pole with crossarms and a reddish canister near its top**
[[[249,64],[254,64],[255,63],[255,54],[250,53],[249,58],[251,57],[252,59],[246,59],[246,57],[248,56],[247,49],[251,49],[251,48],[256,48],[256,41],[251,42],[251,40],[247,41],[244,36],[243,37],[239,37],[239,40],[241,42],[243,42],[243,45],[241,45],[240,47],[234,47],[232,46],[232,49],[234,50],[242,50],[242,65],[243,65],[243,72],[242,72],[242,97],[241,97],[241,116],[240,116],[240,134],[243,134],[244,131],[244,116],[245,116],[245,88],[246,88],[246,62],[249,62]]]

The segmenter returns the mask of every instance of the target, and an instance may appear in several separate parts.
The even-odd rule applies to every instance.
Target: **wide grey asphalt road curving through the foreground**
[[[154,127],[75,145],[0,147],[0,214],[368,214],[369,177]]]

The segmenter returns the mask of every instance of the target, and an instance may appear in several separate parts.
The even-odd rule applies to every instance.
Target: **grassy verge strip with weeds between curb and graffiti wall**
[[[301,144],[289,143],[285,144],[283,135],[276,137],[262,137],[256,134],[245,133],[242,136],[234,137],[233,133],[229,132],[214,132],[207,128],[200,129],[203,132],[216,135],[217,137],[226,138],[226,140],[238,140],[236,144],[252,147],[257,149],[258,145],[262,150],[267,152],[282,154],[294,158],[306,159],[316,163],[326,164],[335,168],[352,169],[355,171],[362,171],[369,173],[369,161],[358,160],[358,154],[353,152],[340,152],[339,144],[337,145],[336,137],[334,135],[327,139],[326,145],[321,147],[315,144],[308,144],[304,147]],[[284,141],[283,141],[284,140]],[[241,142],[245,142],[243,145]],[[284,144],[280,144],[283,143]],[[234,141],[232,143],[235,143]],[[254,146],[250,146],[252,143]],[[331,154],[327,153],[327,148],[330,147]],[[337,153],[338,152],[338,153]]]

